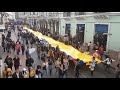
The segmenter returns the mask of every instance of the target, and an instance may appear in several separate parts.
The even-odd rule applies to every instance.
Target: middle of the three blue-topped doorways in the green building
[[[76,35],[81,43],[84,43],[85,24],[77,24]]]

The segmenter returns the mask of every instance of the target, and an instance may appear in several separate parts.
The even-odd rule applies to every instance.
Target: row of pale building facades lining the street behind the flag
[[[106,35],[106,49],[120,51],[119,12],[21,12],[19,16],[31,26],[50,29],[51,33],[82,36],[84,43],[93,42],[95,34],[102,32]]]

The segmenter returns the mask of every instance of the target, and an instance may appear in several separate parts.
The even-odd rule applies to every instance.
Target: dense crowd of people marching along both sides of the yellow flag
[[[17,42],[14,42],[11,39],[11,30],[8,30],[7,36],[2,35],[2,46],[4,48],[4,52],[11,53],[15,52],[15,57],[11,58],[10,55],[7,55],[4,63],[5,69],[3,70],[3,78],[42,78],[45,75],[51,76],[53,74],[53,69],[55,68],[55,75],[58,78],[68,77],[68,70],[70,67],[69,61],[70,56],[66,55],[64,52],[59,50],[59,46],[56,48],[51,47],[48,42],[45,42],[43,39],[39,39],[38,37],[34,36],[30,32],[23,32],[23,28],[17,25]],[[14,30],[15,31],[15,30]],[[59,40],[64,42],[67,45],[72,45],[76,49],[82,47],[82,43],[77,41],[77,38],[69,37],[68,39],[64,39],[56,34],[51,34],[50,30],[46,30],[45,28],[41,28],[38,30],[42,34],[46,36],[50,36],[55,40]],[[29,49],[36,47],[37,49],[37,56],[39,60],[42,60],[42,65],[37,65],[34,67],[34,59],[31,57],[29,53]],[[89,42],[87,51],[90,51],[91,42]],[[22,52],[22,55],[26,56],[26,61],[24,62],[26,68],[23,68],[22,71],[20,70],[21,60],[19,58],[19,54]],[[103,56],[103,46],[96,48],[95,53],[93,54],[93,59],[90,61],[90,71],[91,75],[93,76],[93,72],[95,70],[95,66],[97,61],[95,58],[101,58]],[[89,54],[89,53],[88,53]],[[79,59],[76,60],[75,64],[75,77],[79,78],[80,68],[82,65],[79,63]],[[106,62],[105,70],[109,70],[110,64],[112,63],[112,59],[110,57],[106,57],[103,61]],[[15,72],[13,73],[13,66]],[[119,65],[117,65],[116,69],[116,77],[119,77],[120,69]]]

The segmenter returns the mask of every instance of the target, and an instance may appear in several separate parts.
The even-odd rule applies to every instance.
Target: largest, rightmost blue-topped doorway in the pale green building
[[[108,25],[95,24],[94,44],[98,43],[99,46],[103,45],[104,50],[106,50],[106,45],[107,45],[107,33],[108,33]]]

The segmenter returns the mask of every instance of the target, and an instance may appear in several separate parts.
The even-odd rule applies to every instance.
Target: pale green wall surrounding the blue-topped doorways
[[[85,43],[89,43],[90,41],[93,41],[93,36],[95,33],[95,23],[110,23],[109,33],[112,33],[112,35],[108,35],[108,49],[120,51],[120,16],[109,17],[109,19],[95,19],[94,17],[90,16],[86,17],[85,20],[76,20],[75,18],[73,18],[70,21],[65,21],[64,19],[61,19],[59,27],[60,35],[65,34],[66,23],[71,23],[72,36],[76,35],[76,24],[85,24],[84,41]]]

